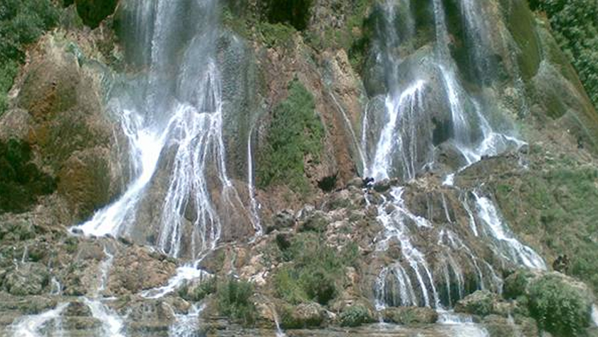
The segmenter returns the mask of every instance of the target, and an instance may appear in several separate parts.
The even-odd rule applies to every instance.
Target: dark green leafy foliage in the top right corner
[[[530,0],[530,5],[547,14],[555,38],[598,107],[598,2]]]

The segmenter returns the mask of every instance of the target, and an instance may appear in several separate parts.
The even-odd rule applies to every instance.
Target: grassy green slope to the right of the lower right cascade
[[[547,162],[545,172],[530,172],[495,186],[495,195],[515,232],[533,237],[545,254],[567,255],[566,273],[598,289],[598,170],[577,167],[567,158]],[[552,166],[552,167],[550,167]],[[510,185],[507,188],[504,185]]]

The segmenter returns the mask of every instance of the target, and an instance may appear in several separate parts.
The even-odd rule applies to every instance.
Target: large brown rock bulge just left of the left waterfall
[[[16,205],[17,211],[25,212],[36,196],[57,190],[71,221],[80,221],[109,202],[126,179],[120,154],[126,153],[127,142],[104,109],[109,73],[86,60],[61,33],[44,36],[29,59],[15,85],[17,108],[0,118],[0,167],[6,172],[1,176],[14,170],[11,181],[20,184],[9,186],[29,196]]]

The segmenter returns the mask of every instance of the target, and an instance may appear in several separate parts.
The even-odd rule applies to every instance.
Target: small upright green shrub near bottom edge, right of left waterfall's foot
[[[218,310],[221,315],[251,326],[256,321],[256,306],[251,301],[253,286],[246,281],[228,279],[216,286]]]

